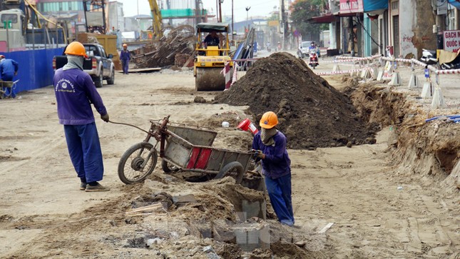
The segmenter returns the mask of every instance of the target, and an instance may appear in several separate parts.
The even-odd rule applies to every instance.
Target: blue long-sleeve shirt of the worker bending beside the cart
[[[262,159],[262,170],[265,177],[276,179],[291,173],[291,160],[287,155],[286,136],[278,131],[273,140],[273,146],[265,146],[260,136],[261,131],[255,134],[252,140],[252,149],[260,150],[265,155]]]

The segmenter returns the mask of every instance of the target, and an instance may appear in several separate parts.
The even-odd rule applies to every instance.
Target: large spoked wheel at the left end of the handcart
[[[118,163],[118,177],[123,183],[138,183],[153,172],[158,155],[156,151],[150,154],[152,148],[152,144],[141,142],[131,146],[123,153]],[[146,160],[148,162],[142,167]]]

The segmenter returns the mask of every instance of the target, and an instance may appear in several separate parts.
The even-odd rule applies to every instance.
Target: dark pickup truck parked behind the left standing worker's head
[[[100,44],[83,44],[86,49],[88,58],[83,61],[83,71],[88,73],[96,87],[102,87],[103,80],[107,84],[115,82],[115,65],[113,65],[113,55],[106,53],[104,47]],[[67,56],[54,56],[53,69],[63,67],[67,64]]]

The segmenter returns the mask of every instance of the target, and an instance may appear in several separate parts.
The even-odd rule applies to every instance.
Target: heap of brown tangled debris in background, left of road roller
[[[178,61],[185,64],[188,59],[185,59],[184,55],[190,57],[193,54],[195,42],[195,30],[192,26],[178,26],[168,31],[160,40],[145,45],[133,60],[136,68],[173,66],[176,63],[176,56],[179,56]]]

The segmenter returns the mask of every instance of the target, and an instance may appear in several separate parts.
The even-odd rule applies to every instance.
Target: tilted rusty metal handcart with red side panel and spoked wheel
[[[165,173],[181,170],[215,175],[215,179],[232,176],[237,184],[241,183],[250,166],[252,153],[213,148],[215,131],[167,126],[168,120],[169,116],[161,123],[150,121],[145,140],[123,153],[118,163],[118,177],[123,183],[143,181],[153,172],[158,154]]]

